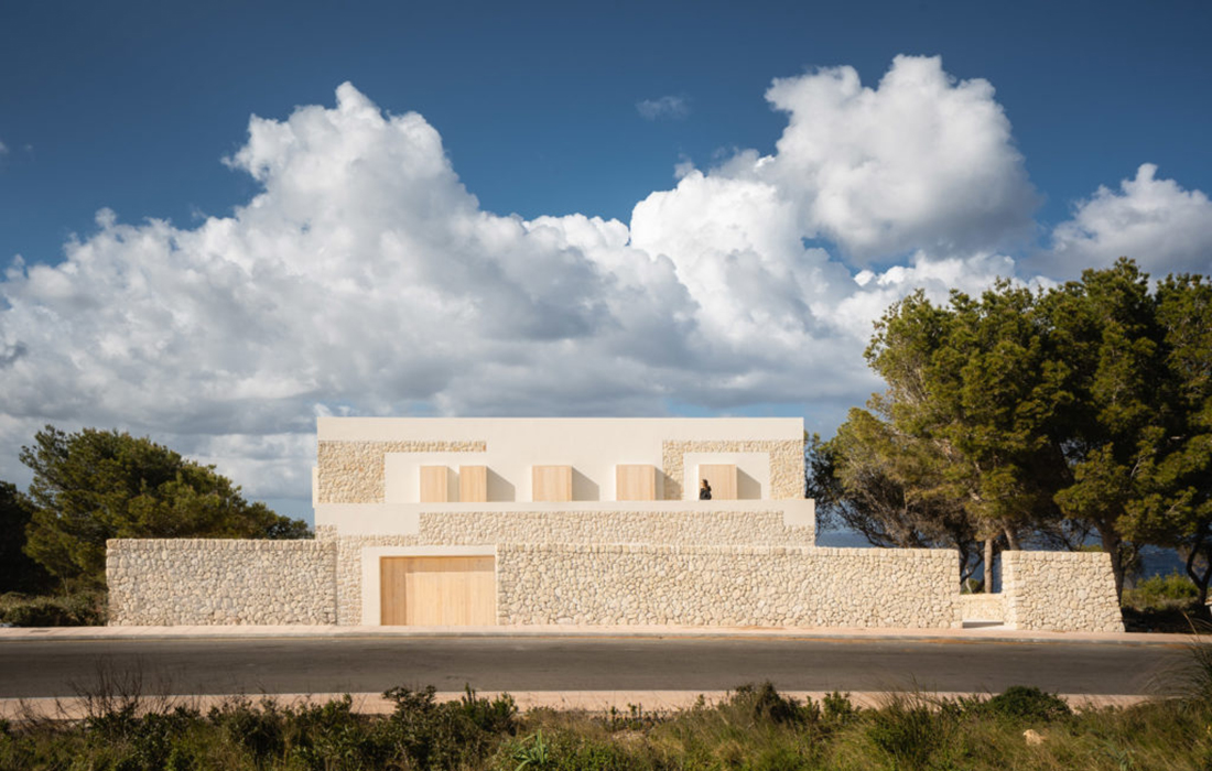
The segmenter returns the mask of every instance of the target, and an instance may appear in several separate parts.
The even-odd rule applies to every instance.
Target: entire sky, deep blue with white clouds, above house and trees
[[[1212,268],[1210,39],[1207,2],[6,8],[0,479],[47,422],[287,509],[322,413],[828,434],[914,289]]]

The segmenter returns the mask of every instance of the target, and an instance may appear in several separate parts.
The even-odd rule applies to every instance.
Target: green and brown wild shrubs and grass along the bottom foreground
[[[1205,657],[1207,658],[1207,657]],[[519,714],[509,696],[438,703],[388,691],[389,715],[347,696],[322,706],[229,701],[207,713],[112,695],[74,723],[0,721],[0,770],[17,769],[1208,769],[1212,692],[1074,712],[1036,689],[991,698],[888,695],[799,702],[770,684],[669,713]]]

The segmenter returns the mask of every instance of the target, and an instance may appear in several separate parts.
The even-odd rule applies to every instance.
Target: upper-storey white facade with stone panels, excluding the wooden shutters
[[[487,467],[492,503],[533,501],[531,470],[572,467],[573,501],[616,501],[619,464],[657,469],[657,497],[696,499],[697,463],[733,463],[753,499],[804,497],[800,418],[330,418],[314,502],[418,502],[421,468]],[[454,487],[452,482],[452,489]]]

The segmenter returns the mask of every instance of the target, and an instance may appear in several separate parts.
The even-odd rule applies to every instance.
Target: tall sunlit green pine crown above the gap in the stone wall
[[[891,424],[937,456],[931,486],[1010,548],[1057,519],[1048,482],[1058,458],[1042,429],[1068,398],[1068,370],[1050,358],[1034,303],[1006,282],[979,301],[956,292],[947,308],[914,295],[885,315],[867,352],[890,384]]]

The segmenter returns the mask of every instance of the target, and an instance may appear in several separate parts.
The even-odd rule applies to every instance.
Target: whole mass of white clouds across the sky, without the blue
[[[261,190],[230,217],[103,210],[62,263],[7,270],[0,478],[46,422],[148,433],[253,496],[307,498],[316,415],[840,417],[877,388],[871,321],[917,287],[1013,275],[1036,194],[993,88],[937,58],[767,98],[788,115],[774,154],[687,167],[630,223],[484,211],[433,126],[350,84],[253,116],[224,162]],[[1127,238],[1115,212],[1157,196],[1207,207],[1151,170],[1125,185],[1057,244]]]

